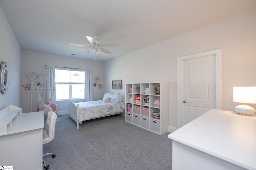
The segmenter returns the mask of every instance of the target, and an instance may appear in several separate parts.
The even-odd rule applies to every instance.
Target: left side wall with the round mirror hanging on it
[[[0,63],[6,62],[9,67],[9,86],[6,94],[0,92],[0,109],[9,105],[20,107],[20,45],[1,6],[0,37]]]

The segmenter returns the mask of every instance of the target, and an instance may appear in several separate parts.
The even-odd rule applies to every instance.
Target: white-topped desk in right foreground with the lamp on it
[[[256,170],[256,116],[211,109],[168,137],[173,170]]]

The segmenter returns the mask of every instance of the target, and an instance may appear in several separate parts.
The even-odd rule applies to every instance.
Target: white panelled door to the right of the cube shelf
[[[178,122],[181,123],[178,127],[186,125],[210,109],[220,109],[220,66],[216,62],[220,61],[219,55],[220,51],[218,56],[216,51],[208,51],[177,60],[180,64]]]

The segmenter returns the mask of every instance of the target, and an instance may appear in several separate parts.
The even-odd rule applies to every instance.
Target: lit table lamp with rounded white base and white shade
[[[256,104],[256,87],[233,87],[233,102],[242,103],[234,107],[237,113],[252,115],[255,109],[246,103]]]

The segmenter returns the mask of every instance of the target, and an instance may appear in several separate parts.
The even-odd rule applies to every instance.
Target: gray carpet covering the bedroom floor
[[[49,170],[171,170],[170,133],[158,135],[125,122],[122,115],[76,123],[59,115],[55,137],[43,145]]]

